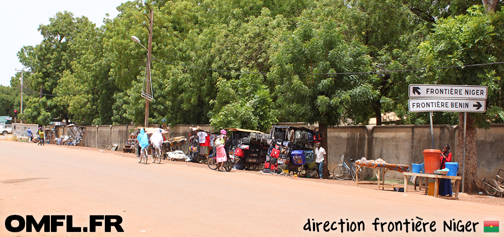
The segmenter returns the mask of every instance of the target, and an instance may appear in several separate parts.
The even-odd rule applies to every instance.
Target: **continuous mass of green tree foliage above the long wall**
[[[502,64],[429,69],[502,61],[500,2],[483,4],[137,0],[99,28],[58,12],[40,25],[40,44],[18,53],[30,69],[24,118],[44,121],[45,111],[83,125],[142,123],[147,51],[130,37],[147,45],[151,8],[150,123],[267,129],[277,121],[330,126],[376,117],[380,125],[382,114],[395,112],[397,123],[422,124],[425,113],[408,112],[408,84],[445,83],[489,87],[487,112],[475,115],[486,127],[504,121]],[[4,113],[19,104],[7,94]],[[42,98],[47,107],[27,103]],[[436,113],[434,122],[457,118]]]

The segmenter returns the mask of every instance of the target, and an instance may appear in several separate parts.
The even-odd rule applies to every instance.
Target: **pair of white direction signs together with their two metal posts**
[[[426,85],[410,84],[408,109],[410,112],[429,112],[432,149],[434,149],[434,131],[432,111],[464,112],[464,148],[462,162],[462,192],[464,192],[466,164],[466,120],[467,112],[484,113],[488,88],[484,86]]]

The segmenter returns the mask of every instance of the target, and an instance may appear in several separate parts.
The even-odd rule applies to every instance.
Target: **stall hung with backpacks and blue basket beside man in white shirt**
[[[279,174],[287,171],[289,174],[297,174],[298,177],[308,177],[310,171],[313,173],[314,143],[322,139],[318,131],[274,125],[271,127],[270,137],[270,148],[263,173]]]

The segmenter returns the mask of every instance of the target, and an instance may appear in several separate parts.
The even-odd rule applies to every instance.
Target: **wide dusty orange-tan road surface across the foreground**
[[[403,195],[307,179],[228,173],[181,162],[138,164],[135,158],[93,148],[37,146],[0,139],[0,236],[497,236],[483,221],[504,223],[504,208]],[[10,215],[72,215],[88,227],[91,215],[119,215],[124,232],[9,232]],[[418,219],[421,218],[422,220]],[[380,221],[435,221],[435,232],[384,232]],[[303,230],[316,222],[363,221],[364,230]],[[479,222],[476,232],[444,232],[443,221]],[[18,222],[11,224],[16,227]],[[331,227],[331,226],[329,226]],[[460,229],[460,227],[459,227]],[[502,230],[501,230],[502,231]],[[503,231],[504,232],[504,231]]]

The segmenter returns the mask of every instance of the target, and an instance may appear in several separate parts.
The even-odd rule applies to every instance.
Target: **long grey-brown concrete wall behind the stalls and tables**
[[[302,126],[318,130],[313,125],[300,123],[283,123],[279,125]],[[159,127],[153,125],[153,127]],[[176,125],[170,128],[172,137],[184,136],[189,139],[190,127],[200,126],[205,131],[213,131],[210,125]],[[81,141],[83,146],[105,148],[117,144],[117,150],[124,147],[136,126],[100,125],[87,126]],[[457,127],[449,125],[434,125],[434,148],[440,149],[448,143],[452,153],[456,153]],[[57,128],[61,129],[61,128]],[[62,129],[61,129],[62,130]],[[67,132],[67,131],[65,131]],[[64,135],[67,135],[65,133]],[[187,151],[188,142],[182,147]],[[350,165],[350,159],[358,160],[366,157],[368,160],[379,158],[390,164],[409,165],[423,162],[424,149],[432,148],[430,125],[396,125],[396,126],[338,126],[328,128],[328,167],[332,171],[341,164],[340,157],[345,155],[345,162]],[[478,177],[491,178],[498,169],[504,170],[504,124],[493,124],[488,130],[477,130],[477,160]],[[462,167],[462,161],[459,167]],[[366,169],[364,175],[372,177],[372,171]],[[400,173],[391,171],[387,179],[402,180]],[[494,176],[493,176],[494,177]]]

